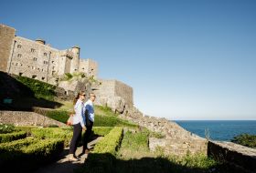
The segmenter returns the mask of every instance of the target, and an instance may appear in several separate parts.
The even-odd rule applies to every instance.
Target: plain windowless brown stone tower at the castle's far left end
[[[0,24],[0,71],[8,72],[9,58],[11,61],[12,47],[16,29]]]

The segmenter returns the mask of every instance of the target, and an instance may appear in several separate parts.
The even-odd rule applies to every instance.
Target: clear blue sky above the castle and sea
[[[80,46],[144,114],[256,119],[254,0],[1,0],[0,23]]]

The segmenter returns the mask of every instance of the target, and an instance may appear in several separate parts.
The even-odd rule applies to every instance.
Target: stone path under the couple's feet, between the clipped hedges
[[[96,139],[92,140],[88,144],[89,148],[93,148],[100,138],[101,137],[97,137]],[[81,150],[82,147],[77,149],[76,156],[80,155]],[[34,173],[73,173],[73,169],[80,168],[84,164],[85,159],[88,157],[88,154],[84,154],[81,156],[79,161],[70,162],[68,155],[69,148],[65,148],[64,151],[61,153],[59,160],[42,168],[38,168]]]

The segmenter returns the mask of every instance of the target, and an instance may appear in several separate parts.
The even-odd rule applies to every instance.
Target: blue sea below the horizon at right
[[[243,133],[256,135],[256,120],[176,120],[181,127],[187,129],[200,137],[213,140],[230,141],[233,137]]]

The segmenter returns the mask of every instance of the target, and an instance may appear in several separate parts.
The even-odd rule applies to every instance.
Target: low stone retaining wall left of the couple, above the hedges
[[[23,111],[0,111],[0,123],[13,124],[15,126],[66,126],[64,123],[49,117],[41,116],[35,112]]]

